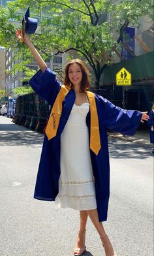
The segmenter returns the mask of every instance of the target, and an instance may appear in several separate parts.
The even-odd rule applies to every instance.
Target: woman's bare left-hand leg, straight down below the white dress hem
[[[76,253],[76,255],[80,255],[82,251],[84,252],[85,250],[85,228],[87,224],[87,216],[87,211],[80,211],[80,228],[74,249],[74,253]],[[82,251],[79,249],[82,249]]]

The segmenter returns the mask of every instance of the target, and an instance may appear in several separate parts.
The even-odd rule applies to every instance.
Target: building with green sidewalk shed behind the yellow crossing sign
[[[102,95],[117,106],[149,111],[154,102],[154,29],[147,16],[127,30],[130,41],[125,41],[121,57],[114,56],[114,64],[107,67],[100,79]],[[131,37],[131,31],[134,35]],[[127,47],[128,46],[128,47]],[[117,86],[116,73],[125,67],[132,75],[131,86]]]

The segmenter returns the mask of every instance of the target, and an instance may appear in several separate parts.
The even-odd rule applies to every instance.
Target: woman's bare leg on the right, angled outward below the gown
[[[104,227],[103,227],[102,223],[99,221],[97,209],[87,210],[87,214],[90,217],[91,221],[93,222],[93,225],[99,232],[100,239],[102,240],[102,244],[104,246],[106,256],[114,256],[115,255],[114,249],[113,249],[112,244],[108,238],[108,235],[104,231]]]

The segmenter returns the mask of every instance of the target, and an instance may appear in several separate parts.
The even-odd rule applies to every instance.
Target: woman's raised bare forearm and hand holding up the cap
[[[22,33],[20,34],[20,29],[16,30],[16,37],[18,38],[18,40],[23,39]],[[44,62],[44,60],[42,59],[42,57],[40,56],[40,54],[38,54],[37,50],[35,49],[35,46],[33,46],[32,42],[29,39],[29,37],[27,36],[27,34],[25,34],[24,42],[25,42],[25,44],[27,44],[27,46],[31,50],[31,53],[32,53],[35,61],[37,61],[38,66],[40,67],[42,72],[44,72],[46,70],[47,65]]]

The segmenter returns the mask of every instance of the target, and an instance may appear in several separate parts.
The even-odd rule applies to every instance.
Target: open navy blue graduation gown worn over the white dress
[[[61,83],[55,77],[54,72],[50,71],[49,68],[44,72],[40,70],[31,78],[29,84],[40,97],[48,101],[52,109],[55,98],[61,88]],[[70,89],[63,100],[57,135],[52,138],[52,140],[48,140],[47,136],[44,135],[37,182],[35,185],[35,199],[53,201],[58,194],[58,180],[61,172],[60,136],[67,123],[75,99],[75,92],[73,89]],[[110,195],[110,165],[106,129],[123,133],[124,135],[134,135],[140,124],[142,113],[136,110],[123,110],[97,94],[95,94],[95,100],[99,117],[101,148],[98,155],[95,155],[91,150],[90,153],[93,175],[95,177],[99,221],[106,221]],[[90,110],[87,114],[86,122],[90,138]]]

